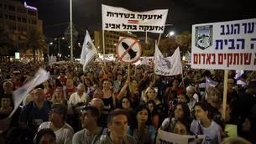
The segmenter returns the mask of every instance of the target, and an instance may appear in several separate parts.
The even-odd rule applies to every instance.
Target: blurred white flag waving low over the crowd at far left
[[[9,117],[12,117],[14,112],[18,109],[18,106],[24,100],[24,97],[29,94],[31,90],[34,89],[37,85],[42,84],[45,80],[50,78],[50,73],[46,70],[40,68],[39,71],[34,75],[32,80],[29,80],[23,87],[18,90],[13,91],[13,105],[14,109]]]

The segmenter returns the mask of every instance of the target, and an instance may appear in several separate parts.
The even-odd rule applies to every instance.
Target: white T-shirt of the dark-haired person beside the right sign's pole
[[[214,121],[212,121],[212,124],[209,127],[201,126],[201,122],[196,120],[192,121],[191,123],[191,132],[193,132],[196,135],[205,134],[206,144],[222,143],[221,131],[222,131],[221,126],[219,126]]]

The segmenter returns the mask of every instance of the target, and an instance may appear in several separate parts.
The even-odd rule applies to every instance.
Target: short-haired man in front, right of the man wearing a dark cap
[[[74,144],[95,144],[107,134],[107,128],[97,126],[100,113],[94,106],[86,106],[81,110],[81,126],[83,130],[76,132],[73,137]]]

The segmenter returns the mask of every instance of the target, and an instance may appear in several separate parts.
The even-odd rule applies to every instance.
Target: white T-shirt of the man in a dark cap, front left
[[[44,122],[39,126],[38,131],[44,128],[50,128],[50,121]],[[60,130],[55,131],[57,144],[72,144],[72,137],[74,135],[73,128],[65,123]]]

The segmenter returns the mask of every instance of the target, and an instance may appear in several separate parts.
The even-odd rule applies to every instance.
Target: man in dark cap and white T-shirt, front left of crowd
[[[57,144],[72,144],[74,136],[73,128],[65,123],[67,117],[67,107],[63,104],[54,104],[51,106],[49,121],[42,123],[38,131],[44,128],[50,128],[55,132]]]

